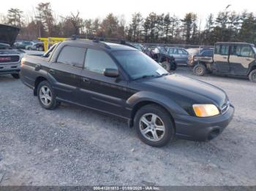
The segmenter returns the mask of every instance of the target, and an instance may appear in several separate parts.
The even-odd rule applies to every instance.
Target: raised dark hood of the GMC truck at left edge
[[[0,43],[10,44],[12,46],[19,32],[20,28],[18,27],[0,24]]]

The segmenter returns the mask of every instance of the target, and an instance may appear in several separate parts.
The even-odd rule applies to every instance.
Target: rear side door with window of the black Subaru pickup
[[[56,80],[53,89],[58,98],[78,102],[80,74],[86,55],[86,48],[66,45],[61,48],[58,58],[50,65],[49,74]]]

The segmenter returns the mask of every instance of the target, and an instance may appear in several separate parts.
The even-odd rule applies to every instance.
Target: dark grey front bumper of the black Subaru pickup
[[[217,137],[227,127],[233,118],[234,106],[225,114],[214,117],[192,117],[178,115],[174,120],[176,123],[176,136],[180,139],[193,141],[208,141]]]

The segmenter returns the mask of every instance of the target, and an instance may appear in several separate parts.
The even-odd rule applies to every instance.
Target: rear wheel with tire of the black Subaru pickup
[[[37,87],[37,98],[39,104],[45,109],[56,109],[59,106],[59,102],[56,101],[56,94],[50,83],[47,81],[42,81]]]

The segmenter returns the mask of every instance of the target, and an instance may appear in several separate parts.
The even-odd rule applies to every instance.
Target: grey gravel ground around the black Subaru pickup
[[[20,80],[0,77],[0,185],[255,185],[256,85],[195,77],[224,89],[233,121],[212,141],[153,148],[127,122],[76,106],[39,106]]]

